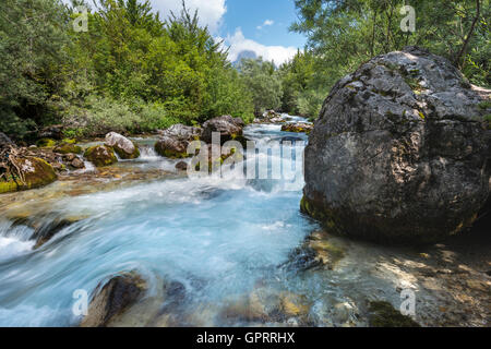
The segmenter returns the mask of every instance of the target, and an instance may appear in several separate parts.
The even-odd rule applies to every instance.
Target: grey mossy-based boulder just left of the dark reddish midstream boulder
[[[160,140],[155,144],[155,152],[169,158],[189,157],[188,145],[200,140],[202,130],[183,124],[175,124],[160,132]]]

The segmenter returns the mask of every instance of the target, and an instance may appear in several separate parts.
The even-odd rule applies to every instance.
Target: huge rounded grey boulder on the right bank
[[[306,149],[302,212],[331,232],[426,243],[469,226],[489,195],[482,97],[422,49],[340,80]]]

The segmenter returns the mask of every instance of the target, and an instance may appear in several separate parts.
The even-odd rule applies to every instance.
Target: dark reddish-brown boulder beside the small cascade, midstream
[[[244,123],[240,118],[230,116],[214,118],[203,124],[202,140],[209,144],[212,143],[213,132],[219,132],[221,144],[232,140],[242,142],[243,128]]]

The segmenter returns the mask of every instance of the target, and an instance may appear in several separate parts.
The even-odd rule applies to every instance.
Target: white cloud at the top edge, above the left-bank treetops
[[[226,0],[185,0],[185,7],[194,13],[197,10],[200,23],[207,25],[209,32],[216,33],[221,24],[221,20],[227,12]],[[182,0],[151,0],[152,7],[160,12],[160,19],[165,20],[172,11],[179,14],[182,8]]]

